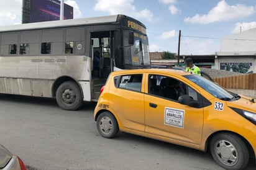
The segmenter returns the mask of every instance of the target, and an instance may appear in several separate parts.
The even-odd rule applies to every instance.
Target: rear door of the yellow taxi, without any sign
[[[117,76],[116,88],[109,91],[109,105],[124,128],[144,132],[144,79],[143,74]],[[112,82],[114,83],[114,81]]]

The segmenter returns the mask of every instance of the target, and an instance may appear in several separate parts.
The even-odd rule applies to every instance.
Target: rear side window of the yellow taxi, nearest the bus
[[[127,89],[131,91],[141,91],[142,85],[142,74],[130,74],[119,76],[119,81],[117,80],[116,87],[121,89]]]

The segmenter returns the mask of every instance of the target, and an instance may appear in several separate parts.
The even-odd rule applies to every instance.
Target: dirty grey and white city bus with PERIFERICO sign
[[[124,15],[0,27],[0,93],[98,101],[111,71],[150,68],[144,24]]]

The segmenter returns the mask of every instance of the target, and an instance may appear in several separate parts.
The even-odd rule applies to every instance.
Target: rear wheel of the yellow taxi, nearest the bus
[[[119,127],[114,115],[102,112],[97,119],[98,132],[104,138],[114,138],[119,132]]]

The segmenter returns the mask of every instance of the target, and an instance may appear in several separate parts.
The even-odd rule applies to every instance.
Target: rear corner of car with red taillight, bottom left
[[[0,144],[0,169],[2,170],[27,170],[21,158],[12,154]]]

